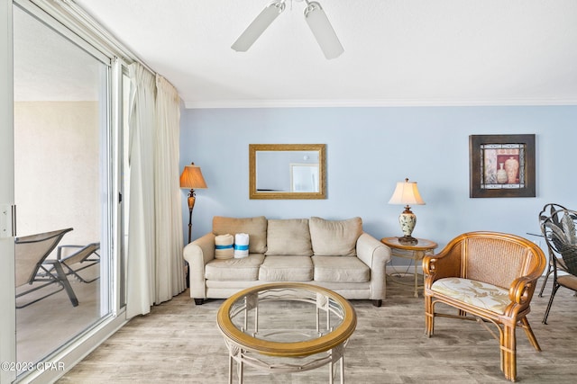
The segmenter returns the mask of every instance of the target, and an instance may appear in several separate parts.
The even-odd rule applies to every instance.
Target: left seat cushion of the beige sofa
[[[250,254],[242,259],[213,259],[206,263],[205,278],[220,281],[259,280],[259,267],[264,255]]]

